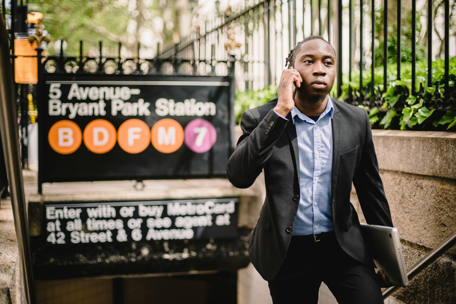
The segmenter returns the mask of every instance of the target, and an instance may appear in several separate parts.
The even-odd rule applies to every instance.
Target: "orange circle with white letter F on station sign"
[[[117,142],[127,153],[143,152],[150,143],[150,129],[144,121],[132,118],[124,121],[117,131]]]

